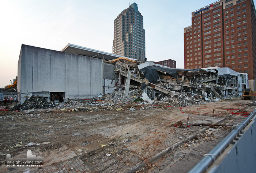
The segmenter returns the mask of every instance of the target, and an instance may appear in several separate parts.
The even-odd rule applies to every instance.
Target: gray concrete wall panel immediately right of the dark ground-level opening
[[[79,98],[79,60],[75,54],[66,54],[66,98]]]

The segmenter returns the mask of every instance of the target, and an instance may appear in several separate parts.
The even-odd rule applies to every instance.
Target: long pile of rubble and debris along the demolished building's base
[[[242,93],[230,94],[223,97],[224,100],[233,100],[241,97]],[[201,104],[205,101],[218,101],[219,98],[207,98],[199,94],[190,92],[175,92],[165,95],[160,94],[155,99],[147,97],[147,94],[142,90],[134,89],[128,92],[128,103],[122,102],[124,91],[115,91],[110,94],[98,94],[97,97],[91,99],[64,99],[63,102],[55,103],[49,102],[49,98],[32,96],[27,99],[23,105],[15,105],[12,110],[29,110],[29,109],[48,109],[55,108],[61,111],[103,111],[103,110],[116,110],[116,111],[133,111],[150,109],[157,106],[177,106],[186,107],[193,104]],[[145,97],[146,95],[146,97]],[[134,104],[136,103],[136,104]]]

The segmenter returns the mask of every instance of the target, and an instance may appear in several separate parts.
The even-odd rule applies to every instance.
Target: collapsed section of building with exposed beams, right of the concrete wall
[[[110,60],[115,63],[116,89],[123,88],[124,101],[129,89],[140,87],[149,98],[175,91],[190,92],[208,97],[225,97],[241,91],[241,77],[230,68],[212,67],[177,69],[128,58]]]

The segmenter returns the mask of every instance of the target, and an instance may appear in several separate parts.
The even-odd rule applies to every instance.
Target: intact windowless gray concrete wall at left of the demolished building
[[[103,93],[103,60],[22,45],[17,84],[21,103],[42,91],[65,92],[65,98],[95,97]]]

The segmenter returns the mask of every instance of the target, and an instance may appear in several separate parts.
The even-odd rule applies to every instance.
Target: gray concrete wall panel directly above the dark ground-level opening
[[[50,91],[65,92],[66,59],[65,54],[51,50]]]

